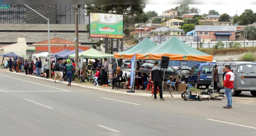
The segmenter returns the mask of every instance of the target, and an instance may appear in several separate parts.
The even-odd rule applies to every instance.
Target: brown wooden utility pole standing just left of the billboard
[[[76,75],[77,77],[79,77],[79,69],[78,69],[78,4],[75,4],[75,71],[76,71]],[[83,65],[81,65],[81,67],[83,67]],[[76,78],[76,81],[78,82],[78,78]]]

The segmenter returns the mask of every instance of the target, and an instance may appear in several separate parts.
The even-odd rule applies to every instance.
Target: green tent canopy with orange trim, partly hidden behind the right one
[[[145,38],[140,43],[132,46],[131,48],[128,48],[127,50],[114,53],[114,57],[115,58],[123,58],[123,59],[132,59],[132,57],[135,54],[152,49],[156,46],[157,45],[155,43],[153,43],[150,39]]]

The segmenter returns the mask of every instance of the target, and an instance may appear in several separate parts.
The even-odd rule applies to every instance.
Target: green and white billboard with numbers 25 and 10
[[[90,13],[89,37],[123,39],[123,15]]]

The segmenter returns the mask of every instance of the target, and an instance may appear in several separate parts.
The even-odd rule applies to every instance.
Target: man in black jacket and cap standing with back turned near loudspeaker
[[[154,64],[155,66],[152,68],[152,71],[151,71],[151,77],[154,82],[154,100],[156,100],[156,90],[157,90],[157,87],[159,87],[160,100],[164,101],[165,99],[163,99],[163,93],[162,93],[162,82],[163,82],[162,70],[160,67],[158,67],[158,62],[155,62]]]

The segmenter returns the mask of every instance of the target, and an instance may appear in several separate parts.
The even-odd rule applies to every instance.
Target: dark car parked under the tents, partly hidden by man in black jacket
[[[154,67],[154,62],[145,62],[143,65],[140,66],[140,71],[145,72],[149,75],[153,67]],[[160,67],[160,64],[159,64],[159,67]],[[163,75],[163,68],[161,68],[161,70]],[[165,69],[165,75],[179,75],[179,74],[180,73],[176,72],[175,69],[171,66]],[[169,76],[165,76],[165,81],[167,81],[168,78]]]

